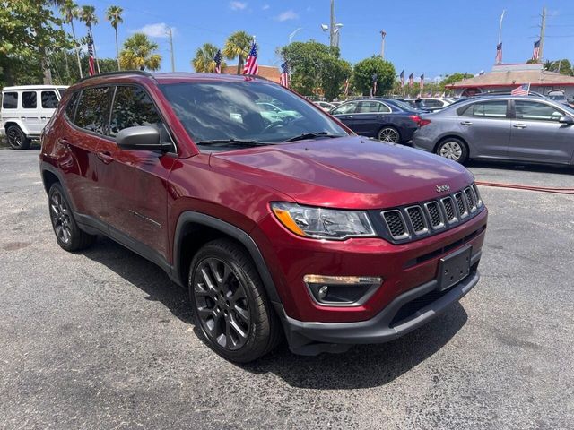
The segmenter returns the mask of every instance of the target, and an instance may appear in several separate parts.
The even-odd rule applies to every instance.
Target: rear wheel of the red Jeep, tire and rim
[[[48,210],[57,245],[66,251],[80,251],[93,244],[96,236],[87,234],[75,222],[70,203],[65,198],[62,185],[56,183],[48,193]]]

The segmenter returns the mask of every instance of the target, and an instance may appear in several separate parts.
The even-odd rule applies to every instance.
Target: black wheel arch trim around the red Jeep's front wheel
[[[178,218],[173,243],[174,280],[181,286],[187,286],[189,264],[193,256],[207,242],[222,237],[232,239],[248,252],[263,281],[267,297],[271,302],[281,303],[263,254],[251,236],[222,219],[200,212],[185,211]]]

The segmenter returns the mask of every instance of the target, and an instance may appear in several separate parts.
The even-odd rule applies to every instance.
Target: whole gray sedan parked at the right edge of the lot
[[[509,159],[574,164],[574,109],[550,99],[468,99],[422,116],[413,147],[464,163]]]

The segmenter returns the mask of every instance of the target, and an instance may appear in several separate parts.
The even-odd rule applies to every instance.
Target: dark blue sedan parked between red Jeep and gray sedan
[[[393,143],[409,142],[421,120],[412,107],[393,99],[347,101],[331,115],[355,133]]]

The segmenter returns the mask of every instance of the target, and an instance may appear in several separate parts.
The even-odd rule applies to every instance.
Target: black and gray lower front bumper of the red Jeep
[[[431,280],[396,297],[380,313],[366,321],[354,323],[316,323],[295,320],[285,314],[283,306],[275,310],[291,351],[302,355],[321,352],[344,352],[353,344],[383,343],[428,323],[449,305],[465,296],[478,282],[481,252],[472,256],[470,274],[446,291],[439,291],[438,281]]]

